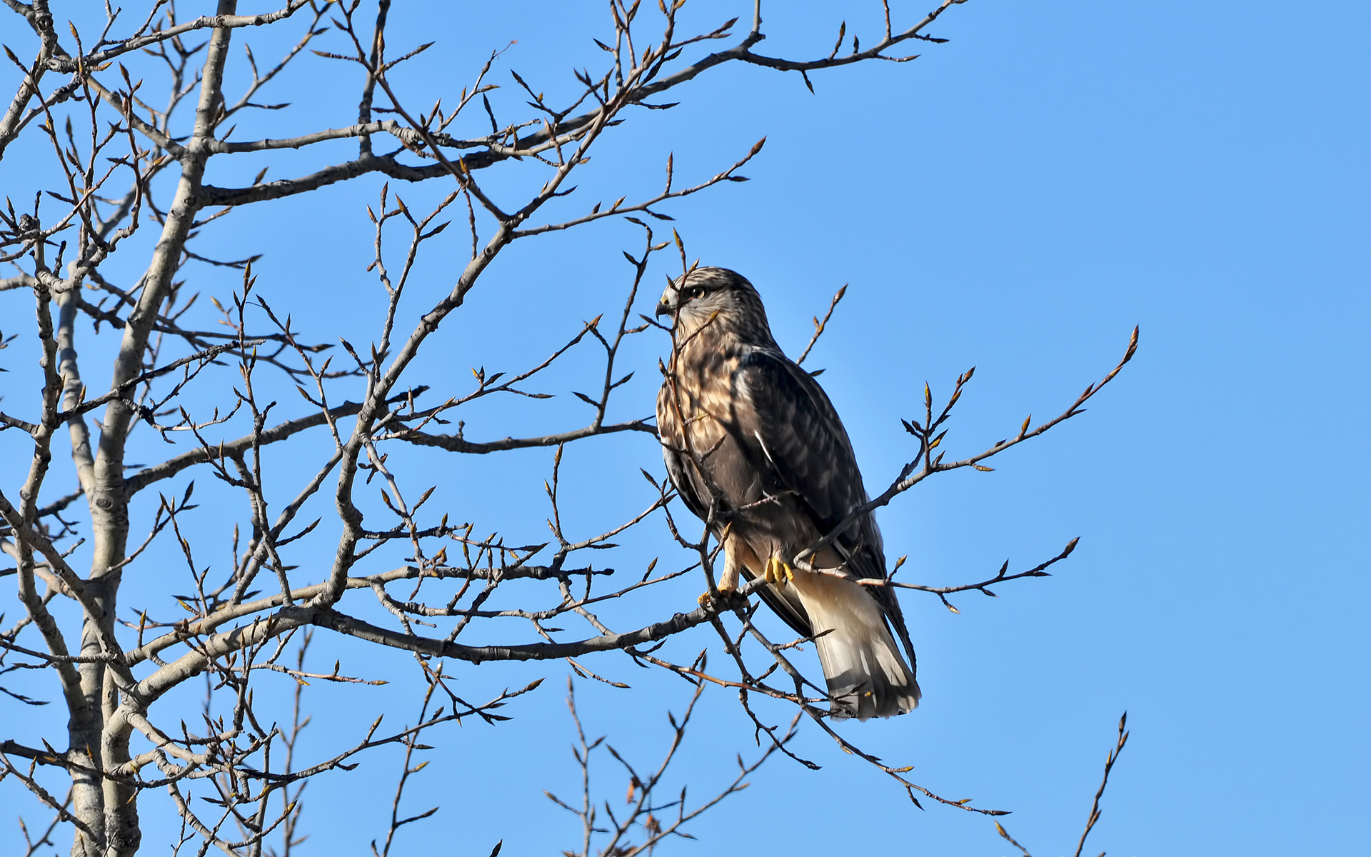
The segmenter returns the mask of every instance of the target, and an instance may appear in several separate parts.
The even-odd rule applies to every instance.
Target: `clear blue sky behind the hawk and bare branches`
[[[590,38],[609,32],[602,4],[425,4],[422,15],[409,5],[392,14],[392,53],[437,40],[430,58],[396,78],[413,104],[468,84],[491,49],[517,40],[492,73],[506,85],[495,104],[509,104],[513,117],[520,99],[509,69],[557,100],[574,85],[573,66],[596,67]],[[893,5],[899,27],[927,4]],[[750,8],[692,0],[683,22],[707,30]],[[876,3],[773,3],[758,51],[827,55],[843,18],[849,33],[876,40]],[[979,580],[1005,559],[1012,570],[1028,568],[1080,536],[1053,577],[998,587],[998,599],[954,598],[960,614],[903,594],[924,702],[888,723],[842,727],[893,764],[913,765],[909,776],[945,797],[1013,810],[1006,827],[1039,857],[1075,847],[1124,710],[1132,738],[1089,853],[1283,857],[1367,847],[1368,27],[1363,3],[972,0],[928,30],[949,44],[917,44],[923,56],[906,64],[813,74],[814,95],[798,75],[762,69],[702,75],[673,93],[680,107],[640,111],[617,129],[565,208],[651,192],[669,152],[679,180],[713,174],[766,136],[744,170],[753,181],[662,211],[676,218],[691,258],[733,267],[758,287],[791,354],[808,341],[810,315],[850,284],[810,361],[827,369],[821,381],[876,491],[914,451],[899,418],[921,410],[925,380],[945,396],[976,366],[945,440],[949,455],[961,457],[1012,435],[1030,413],[1061,411],[1141,326],[1137,358],[1087,414],[998,458],[994,473],[942,474],[879,514],[887,553],[909,555],[901,575],[928,584]],[[280,49],[260,44],[259,56]],[[304,59],[266,96],[298,107],[240,137],[350,123],[355,77]],[[343,159],[354,145],[274,155],[282,166],[271,177]],[[0,167],[7,188],[25,189],[26,158],[51,158],[33,147],[11,152]],[[229,173],[214,162],[208,181],[251,180],[266,163],[244,159]],[[510,193],[526,181],[515,170],[491,176]],[[372,226],[363,204],[380,184],[363,178],[265,203],[206,237],[225,255],[263,252],[260,293],[293,313],[307,336],[365,343],[384,306],[365,271]],[[451,189],[439,184],[399,191],[420,210]],[[462,230],[447,240],[462,258]],[[415,381],[451,385],[446,398],[466,389],[469,366],[511,370],[542,359],[579,319],[621,306],[628,266],[620,251],[639,244],[636,226],[605,222],[513,247],[430,343]],[[402,329],[451,287],[444,252],[421,263]],[[643,311],[666,262],[640,299]],[[232,285],[219,270],[189,271],[208,291]],[[29,300],[0,295],[0,317],[27,318]],[[19,325],[7,322],[5,333],[11,326]],[[21,384],[29,346],[21,340],[4,354],[12,373],[5,410],[29,395]],[[101,347],[92,341],[82,355]],[[611,415],[651,411],[665,347],[644,336],[628,351],[625,367],[638,376]],[[468,436],[580,425],[588,409],[565,394],[598,384],[598,363],[588,351],[577,359],[542,385],[558,399],[473,410]],[[14,435],[0,435],[7,485],[26,466]],[[550,450],[396,461],[410,477],[440,484],[430,502],[454,520],[542,540]],[[299,462],[278,455],[277,463],[288,476]],[[573,446],[563,465],[574,498],[569,525],[599,532],[646,506],[639,466],[662,473],[643,435]],[[280,498],[296,490],[287,476]],[[215,518],[241,516],[241,503],[199,477],[204,553],[222,565],[228,536]],[[308,543],[319,562],[332,557],[330,542],[321,528]],[[638,569],[655,555],[686,562],[659,521],[610,564]],[[152,594],[169,584],[130,586]],[[699,590],[699,580],[683,580],[613,616],[621,627],[642,625],[692,607]],[[413,721],[410,661],[321,643],[321,666],[341,655],[345,669],[393,683],[311,686],[307,754],[330,756],[383,710]],[[672,650],[688,658],[706,646],[721,664],[707,629]],[[688,687],[618,654],[587,665],[633,686],[581,681],[587,731],[651,760],[666,739],[666,709],[679,712]],[[441,810],[406,828],[402,853],[484,857],[498,839],[505,854],[573,847],[576,820],[542,795],[579,788],[574,732],[559,701],[565,665],[454,664],[450,672],[469,698],[550,680],[505,709],[515,717],[507,724],[473,721],[433,736],[439,750],[415,777],[410,806]],[[0,721],[14,724],[7,732],[34,734],[41,716],[0,702]],[[932,804],[921,812],[827,739],[806,735],[799,747],[823,771],[771,762],[691,828],[698,842],[670,842],[662,853],[1012,852],[988,819]],[[706,692],[687,749],[673,782],[690,782],[698,797],[728,776],[736,751],[755,751],[736,698]],[[622,777],[607,757],[600,764],[600,797],[622,801]],[[300,853],[363,853],[384,835],[398,767],[396,756],[377,754],[311,784],[311,838]],[[384,799],[373,805],[372,797]],[[16,786],[0,784],[11,819],[12,808],[29,805],[19,798]],[[148,806],[147,853],[165,853],[174,827],[151,798]],[[0,850],[15,836],[12,825],[0,831]]]

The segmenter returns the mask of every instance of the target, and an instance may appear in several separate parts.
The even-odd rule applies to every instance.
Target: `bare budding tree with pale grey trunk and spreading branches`
[[[755,602],[746,596],[761,581],[749,584],[742,599],[707,601],[688,612],[658,612],[644,596],[696,569],[713,581],[718,546],[676,513],[655,444],[629,446],[632,435],[655,433],[651,421],[610,415],[611,407],[624,407],[618,391],[647,369],[625,366],[624,348],[659,326],[639,314],[648,273],[664,270],[662,265],[672,270],[691,265],[683,236],[665,234],[672,200],[746,181],[740,170],[765,140],[732,165],[684,182],[669,156],[665,184],[653,193],[594,202],[572,184],[573,173],[587,170],[592,151],[603,148],[602,140],[620,133],[620,125],[640,121],[643,110],[672,107],[662,99],[675,97],[698,75],[754,64],[798,73],[810,85],[812,71],[905,62],[913,56],[898,55],[903,43],[941,41],[924,29],[960,1],[946,0],[905,29],[891,23],[887,7],[884,32],[865,45],[857,34],[849,43],[843,25],[827,56],[803,60],[758,51],[765,38],[760,3],[743,27],[733,19],[690,29],[680,18],[683,0],[657,10],[616,1],[607,37],[598,43],[599,64],[574,73],[572,97],[546,96],[544,84],[525,81],[514,70],[513,88],[496,92],[492,81],[502,58],[495,51],[472,69],[466,86],[448,92],[446,104],[439,100],[421,110],[399,75],[411,63],[436,62],[426,53],[432,43],[388,47],[387,21],[403,11],[388,0],[366,16],[356,1],[292,0],[273,12],[240,15],[234,0],[219,0],[215,15],[193,19],[162,1],[133,22],[107,10],[103,21],[69,27],[58,23],[44,0],[7,0],[29,25],[26,48],[34,59],[23,62],[10,52],[21,74],[0,121],[0,155],[21,137],[51,148],[36,180],[43,192],[32,204],[8,200],[0,215],[0,252],[18,271],[0,282],[8,292],[4,317],[11,330],[21,328],[3,341],[15,347],[11,354],[27,352],[7,369],[12,377],[23,377],[21,366],[34,362],[41,370],[38,396],[18,398],[30,387],[11,384],[11,400],[0,414],[0,428],[29,436],[23,443],[32,459],[18,481],[0,491],[0,544],[14,562],[0,573],[15,577],[21,603],[18,618],[0,636],[0,664],[12,705],[45,703],[51,697],[63,709],[48,734],[0,736],[5,739],[0,776],[22,783],[55,813],[44,832],[30,836],[30,853],[62,835],[71,836],[74,854],[136,853],[151,845],[140,813],[163,802],[182,821],[175,849],[255,854],[270,847],[285,854],[300,842],[306,783],[354,765],[367,750],[399,746],[404,767],[389,832],[373,843],[378,853],[389,853],[403,825],[432,813],[404,817],[400,810],[406,783],[420,767],[411,757],[428,749],[421,743],[425,731],[462,720],[496,723],[506,716],[502,708],[540,681],[469,701],[455,688],[454,671],[565,660],[583,679],[610,681],[595,672],[592,658],[600,653],[622,653],[680,676],[692,695],[691,708],[672,720],[673,738],[655,772],[610,750],[629,780],[627,814],[609,814],[605,827],[606,814],[588,784],[580,801],[554,798],[581,819],[581,853],[638,853],[683,835],[688,821],[740,790],[773,757],[817,767],[788,746],[802,727],[825,732],[894,779],[916,805],[927,799],[1002,814],[941,797],[909,779],[908,767],[886,764],[835,731],[818,690],[823,683],[806,679],[813,665],[792,654],[803,640],[773,640],[753,623]],[[293,47],[280,62],[258,66],[247,45],[244,58],[233,59],[234,40],[280,29],[293,33]],[[278,97],[271,95],[277,78],[285,80],[292,63],[311,52],[358,73],[358,115],[345,128],[295,134],[288,106],[260,99]],[[230,88],[234,74],[245,82],[239,95]],[[152,106],[163,99],[165,106]],[[260,134],[233,140],[239,128]],[[223,186],[211,184],[207,173],[211,162],[213,176],[232,176],[234,167],[225,162],[308,155],[345,140],[356,143],[354,156],[324,166],[311,162],[307,173],[292,178],[267,181],[266,174],[291,173],[293,160],[267,160],[254,180]],[[12,158],[18,149],[8,151]],[[344,339],[335,348],[335,337],[315,333],[314,324],[298,324],[274,310],[280,289],[289,284],[259,282],[256,255],[219,258],[200,248],[207,234],[222,233],[225,218],[243,217],[240,208],[321,193],[339,182],[374,186],[376,203],[366,208],[374,225],[367,270],[377,277],[385,309],[370,343]],[[437,185],[446,195],[428,208],[411,208],[392,182]],[[473,369],[474,385],[463,387],[432,362],[432,343],[462,315],[498,256],[525,247],[536,254],[537,236],[609,218],[636,224],[642,243],[622,254],[629,262],[627,298],[607,322],[603,310],[595,310],[592,321],[563,340],[544,343],[546,359],[513,374]],[[396,229],[399,251],[391,250]],[[455,282],[439,288],[418,273],[425,254],[450,263],[459,259]],[[217,271],[233,271],[236,282],[222,288]],[[19,302],[30,293],[33,321],[18,322]],[[843,291],[834,296],[823,321],[816,317],[801,361],[842,296]],[[78,359],[85,322],[92,325],[88,336],[99,361]],[[866,509],[890,503],[935,473],[988,469],[982,462],[1076,415],[1116,377],[1135,344],[1137,332],[1119,365],[1060,415],[1036,425],[1026,420],[1005,440],[957,461],[945,461],[941,444],[972,370],[957,378],[946,402],[935,405],[925,385],[921,414],[905,424],[914,440],[912,458]],[[587,348],[602,355],[594,392],[572,392],[591,409],[588,421],[505,439],[466,437],[472,409],[500,399],[547,399],[532,384]],[[498,407],[513,413],[513,406]],[[628,407],[648,410],[639,403]],[[455,431],[444,428],[454,420]],[[53,466],[60,433],[71,446],[64,494],[67,485],[58,476],[64,465]],[[561,479],[563,450],[602,436],[622,442],[628,472],[644,468],[653,496],[627,520],[580,532],[563,524],[573,502]],[[288,450],[291,463],[273,458],[280,448]],[[429,461],[417,458],[420,450],[470,457],[526,448],[555,450],[546,481],[550,514],[532,511],[509,535],[485,535],[478,520],[458,522],[469,511],[450,514],[440,507],[454,502],[451,492],[430,503],[436,485],[396,466]],[[149,463],[134,463],[143,457]],[[304,462],[308,473],[299,476]],[[195,479],[203,483],[207,476],[237,496],[229,506],[219,499],[226,495],[215,495],[213,521],[193,514]],[[202,488],[199,496],[204,495]],[[550,540],[542,535],[544,517]],[[140,520],[149,521],[136,532]],[[613,551],[616,539],[650,522],[661,525],[664,543],[675,543],[687,557],[679,566],[659,570],[654,559],[640,577],[622,569],[616,577],[614,569],[599,568],[606,554],[596,551]],[[206,554],[217,550],[208,540],[229,531],[232,566],[225,572]],[[325,538],[332,558],[321,561],[330,555]],[[1010,572],[1006,564],[961,586],[866,583],[930,592],[951,607],[950,594],[990,594],[993,584],[1045,576],[1073,547],[1075,540],[1027,570]],[[180,554],[180,568],[171,553]],[[130,603],[136,577],[155,590],[155,601]],[[174,610],[180,610],[175,617]],[[620,618],[632,610],[633,620],[610,624],[609,610]],[[577,627],[563,631],[551,623]],[[713,665],[705,651],[680,655],[681,646],[706,644],[699,636],[710,633],[705,625],[718,638]],[[424,677],[418,717],[400,729],[383,728],[377,719],[365,735],[337,740],[330,753],[300,758],[296,740],[308,724],[303,688],[311,680],[377,683],[341,669],[344,639],[413,655]],[[307,665],[319,658],[333,661],[332,671]],[[273,672],[293,679],[293,691],[263,688],[265,673]],[[191,717],[202,695],[199,676],[206,677],[203,706]],[[750,760],[739,758],[736,776],[713,797],[665,798],[662,772],[676,758],[695,701],[710,686],[736,692],[760,749]],[[66,724],[66,736],[58,723]],[[289,725],[277,725],[282,723]],[[588,772],[599,742],[587,739],[579,720],[577,732],[577,760]],[[193,794],[208,804],[196,804]]]

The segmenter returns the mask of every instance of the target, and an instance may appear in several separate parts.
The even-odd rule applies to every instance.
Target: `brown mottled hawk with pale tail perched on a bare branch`
[[[723,540],[718,590],[736,590],[739,577],[768,581],[762,601],[814,638],[831,716],[916,708],[914,650],[895,594],[854,583],[886,577],[871,513],[810,558],[814,570],[790,566],[868,499],[828,396],[776,346],[757,289],[736,271],[688,271],[666,287],[657,314],[675,321],[657,394],[662,457],[681,500]]]

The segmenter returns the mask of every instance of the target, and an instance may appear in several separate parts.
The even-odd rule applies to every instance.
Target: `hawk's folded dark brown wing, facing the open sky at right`
[[[814,529],[827,535],[866,502],[847,432],[832,402],[808,372],[776,351],[754,348],[738,363],[733,394],[739,442],[765,457]],[[843,558],[849,577],[886,576],[880,531],[871,514],[840,533],[834,548]],[[865,588],[880,603],[913,660],[894,592],[887,587]]]

